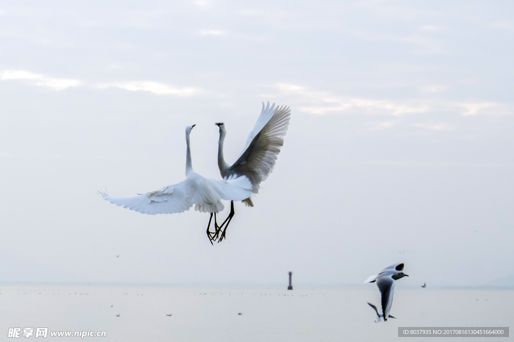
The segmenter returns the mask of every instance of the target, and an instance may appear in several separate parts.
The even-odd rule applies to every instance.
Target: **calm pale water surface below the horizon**
[[[379,292],[371,285],[363,290],[293,291],[3,286],[0,293],[0,336],[5,336],[1,340],[40,340],[7,338],[8,328],[27,327],[106,331],[106,337],[83,339],[91,341],[224,342],[397,341],[397,327],[402,326],[514,327],[514,291],[507,290],[396,288],[391,314],[397,319],[379,324],[366,304],[370,301],[380,307]],[[79,338],[49,336],[44,340]],[[455,342],[463,338],[401,340]]]

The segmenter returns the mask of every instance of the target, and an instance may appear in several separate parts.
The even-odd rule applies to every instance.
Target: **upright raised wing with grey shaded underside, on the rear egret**
[[[246,146],[236,162],[229,168],[238,175],[245,175],[253,185],[252,192],[257,193],[259,184],[273,170],[280,148],[284,145],[284,136],[289,125],[291,110],[275,105],[262,105],[262,112],[253,130],[248,135]]]

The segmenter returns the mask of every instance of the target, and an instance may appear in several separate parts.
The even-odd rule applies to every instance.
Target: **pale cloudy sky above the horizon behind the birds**
[[[297,287],[514,279],[514,5],[3,1],[0,282]],[[276,167],[211,246],[208,214],[105,202],[221,179],[262,102]],[[228,214],[226,211],[221,215]],[[119,255],[119,257],[116,257]],[[502,280],[503,278],[503,280]],[[510,280],[511,281],[511,280]]]

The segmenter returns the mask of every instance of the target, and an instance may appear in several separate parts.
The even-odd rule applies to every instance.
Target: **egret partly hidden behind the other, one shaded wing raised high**
[[[273,104],[270,108],[269,101],[267,106],[264,107],[263,102],[261,115],[248,135],[243,152],[237,157],[232,166],[227,164],[223,157],[223,143],[227,134],[225,124],[215,123],[219,127],[218,168],[223,179],[227,180],[246,176],[252,184],[252,192],[258,193],[261,182],[273,170],[277,155],[280,153],[280,148],[284,145],[284,136],[287,132],[290,117],[291,110],[289,107],[275,107],[275,104]],[[242,202],[248,207],[253,207],[250,196]],[[219,227],[219,230],[221,230],[226,224],[218,242],[221,242],[225,237],[225,232],[234,214],[234,200],[232,200],[230,202],[230,214]],[[216,232],[217,234],[219,234],[219,230]]]

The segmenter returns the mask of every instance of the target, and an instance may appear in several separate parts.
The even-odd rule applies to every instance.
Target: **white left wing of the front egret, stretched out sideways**
[[[175,214],[189,210],[193,203],[187,194],[186,181],[167,186],[160,190],[130,197],[113,197],[102,193],[102,197],[112,204],[134,210],[142,214]]]

